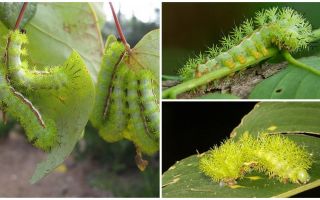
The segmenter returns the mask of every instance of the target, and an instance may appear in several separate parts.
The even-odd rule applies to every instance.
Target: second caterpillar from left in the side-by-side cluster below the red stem
[[[99,134],[108,142],[116,142],[123,138],[123,131],[127,128],[128,116],[126,113],[126,73],[127,66],[121,63],[112,82],[112,93],[110,94],[110,104],[105,110],[105,121],[103,122]]]

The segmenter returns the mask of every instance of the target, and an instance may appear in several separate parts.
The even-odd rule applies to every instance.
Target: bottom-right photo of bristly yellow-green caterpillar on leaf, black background
[[[319,197],[319,102],[162,102],[162,197]]]

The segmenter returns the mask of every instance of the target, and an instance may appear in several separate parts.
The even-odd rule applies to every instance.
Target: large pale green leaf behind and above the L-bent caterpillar
[[[76,50],[96,81],[104,47],[91,3],[38,3],[26,30],[31,64],[58,65]]]

